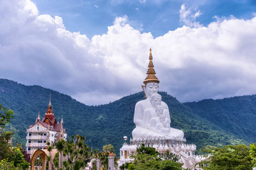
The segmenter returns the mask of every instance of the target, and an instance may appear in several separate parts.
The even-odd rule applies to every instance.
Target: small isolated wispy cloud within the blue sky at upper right
[[[197,8],[193,9],[192,8],[186,8],[185,4],[181,5],[180,9],[180,22],[183,23],[185,26],[189,26],[191,28],[199,28],[201,27],[201,24],[199,22],[196,22],[196,18],[198,16],[201,16],[200,10]]]

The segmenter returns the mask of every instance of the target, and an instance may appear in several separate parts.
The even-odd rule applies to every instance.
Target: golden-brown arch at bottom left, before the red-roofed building
[[[57,149],[51,150],[50,153],[47,149],[33,149],[33,152],[31,153],[31,170],[35,170],[35,162],[38,156],[41,157],[42,170],[46,170],[47,157],[51,155],[54,159],[57,152]]]

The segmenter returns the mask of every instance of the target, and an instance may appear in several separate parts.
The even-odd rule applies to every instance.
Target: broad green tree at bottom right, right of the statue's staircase
[[[247,170],[252,169],[252,157],[247,145],[226,145],[224,147],[205,147],[203,152],[210,157],[203,164],[203,169]]]

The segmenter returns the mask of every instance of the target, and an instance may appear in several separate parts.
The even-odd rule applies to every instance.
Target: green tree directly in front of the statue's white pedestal
[[[134,162],[128,165],[129,170],[181,170],[181,164],[174,161],[178,160],[177,157],[172,157],[170,153],[166,154],[166,156],[159,157],[159,152],[154,147],[145,147],[144,144],[137,149],[136,155],[131,155],[130,157],[134,158]]]

